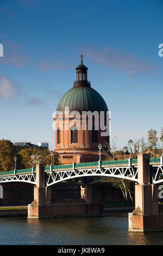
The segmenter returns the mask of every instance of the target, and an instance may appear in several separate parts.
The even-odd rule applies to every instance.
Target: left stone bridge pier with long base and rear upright
[[[103,205],[98,204],[95,185],[81,186],[79,203],[51,203],[51,187],[46,187],[45,167],[36,164],[34,201],[28,204],[28,218],[102,216]]]

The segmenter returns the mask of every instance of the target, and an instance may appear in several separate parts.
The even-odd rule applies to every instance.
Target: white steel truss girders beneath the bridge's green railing
[[[53,172],[45,172],[46,186],[51,186],[61,181],[74,179],[76,182],[80,178],[93,178],[89,184],[99,182],[109,178],[121,178],[137,182],[137,166],[114,166],[103,168],[85,168],[71,170],[56,170]],[[81,180],[81,179],[80,179]],[[36,174],[17,174],[0,176],[0,183],[3,182],[27,182],[36,185]],[[151,166],[151,182],[158,184],[163,182],[163,166]],[[80,184],[80,182],[78,182]]]

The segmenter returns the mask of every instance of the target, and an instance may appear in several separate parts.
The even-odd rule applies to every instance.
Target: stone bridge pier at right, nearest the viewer
[[[159,205],[159,185],[151,184],[149,154],[138,155],[137,170],[135,210],[128,215],[129,231],[162,231],[163,212],[162,205]]]

